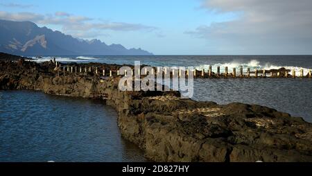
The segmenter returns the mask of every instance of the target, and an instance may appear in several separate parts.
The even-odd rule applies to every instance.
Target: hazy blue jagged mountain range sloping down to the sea
[[[0,19],[0,39],[0,51],[15,55],[153,55],[99,39],[78,39],[31,21]]]

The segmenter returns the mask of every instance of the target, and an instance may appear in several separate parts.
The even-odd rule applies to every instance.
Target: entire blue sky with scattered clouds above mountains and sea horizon
[[[311,0],[0,0],[0,19],[155,54],[312,54]]]

